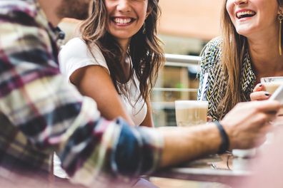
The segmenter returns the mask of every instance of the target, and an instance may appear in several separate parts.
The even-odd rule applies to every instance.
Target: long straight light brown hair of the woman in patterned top
[[[277,0],[282,6],[283,0]],[[222,117],[231,110],[234,105],[242,102],[243,90],[241,88],[242,62],[248,51],[247,38],[239,35],[226,9],[227,0],[222,6],[222,73],[227,85],[224,89],[224,98],[219,103],[217,111]],[[283,33],[282,33],[283,36]],[[222,118],[220,117],[220,118]]]

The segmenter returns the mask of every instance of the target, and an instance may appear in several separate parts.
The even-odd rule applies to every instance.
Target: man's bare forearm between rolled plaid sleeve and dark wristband
[[[216,153],[221,137],[214,123],[194,127],[162,127],[164,150],[161,167]]]

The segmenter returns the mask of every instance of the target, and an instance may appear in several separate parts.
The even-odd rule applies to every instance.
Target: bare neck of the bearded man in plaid
[[[56,9],[61,4],[61,0],[37,0],[39,1],[39,5],[41,9],[44,11],[47,20],[52,24],[52,26],[56,27],[61,18],[56,14]]]

